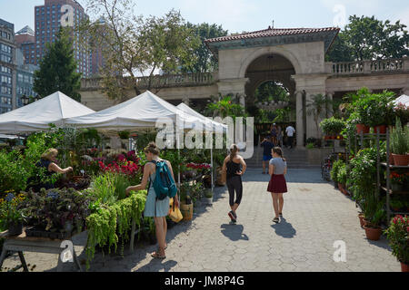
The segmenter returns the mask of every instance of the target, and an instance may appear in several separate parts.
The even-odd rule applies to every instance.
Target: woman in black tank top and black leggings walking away
[[[227,214],[233,223],[237,221],[237,210],[243,195],[242,175],[246,169],[243,158],[237,154],[238,147],[233,144],[230,148],[230,155],[224,159],[223,170],[226,172],[226,185],[229,191],[229,205],[231,211]],[[234,200],[235,191],[235,200]]]

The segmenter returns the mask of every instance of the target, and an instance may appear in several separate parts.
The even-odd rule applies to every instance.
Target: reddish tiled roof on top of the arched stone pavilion
[[[254,31],[253,33],[237,34],[237,35],[227,35],[217,38],[206,39],[205,43],[218,43],[230,40],[240,40],[249,39],[257,37],[268,37],[268,36],[279,36],[279,35],[292,35],[292,34],[313,34],[322,32],[337,32],[339,28],[337,27],[326,27],[326,28],[271,28],[268,27],[264,30]]]

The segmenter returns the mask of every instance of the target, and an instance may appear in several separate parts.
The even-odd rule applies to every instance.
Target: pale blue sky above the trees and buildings
[[[381,20],[401,20],[409,26],[407,0],[132,0],[135,13],[160,16],[172,8],[180,10],[186,21],[194,24],[222,24],[229,33],[274,27],[343,27],[351,14],[375,15]],[[78,0],[86,7],[86,0]],[[0,18],[15,24],[15,31],[25,25],[34,27],[35,5],[44,0],[0,0]],[[92,15],[91,15],[92,16]]]

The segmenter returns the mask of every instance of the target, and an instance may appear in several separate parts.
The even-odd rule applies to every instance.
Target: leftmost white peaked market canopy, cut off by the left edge
[[[55,92],[37,102],[0,115],[0,133],[42,131],[50,123],[57,127],[65,120],[95,112],[63,92]]]

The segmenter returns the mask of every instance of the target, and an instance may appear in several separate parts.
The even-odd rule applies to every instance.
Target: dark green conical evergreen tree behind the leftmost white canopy
[[[33,90],[40,98],[56,91],[64,92],[75,101],[81,101],[81,73],[76,73],[73,44],[69,28],[60,28],[55,43],[47,43],[47,51],[35,71]]]

